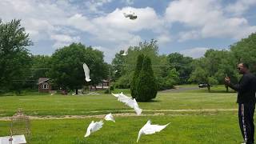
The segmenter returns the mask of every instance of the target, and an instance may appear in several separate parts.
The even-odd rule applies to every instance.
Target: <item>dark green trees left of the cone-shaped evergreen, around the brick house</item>
[[[55,50],[51,56],[32,55],[31,46],[20,20],[0,21],[0,93],[24,89],[37,89],[38,78],[50,78],[54,90],[82,89],[96,86],[108,78],[109,65],[104,62],[102,51],[81,43],[72,43]],[[82,64],[90,67],[91,82],[85,82]]]

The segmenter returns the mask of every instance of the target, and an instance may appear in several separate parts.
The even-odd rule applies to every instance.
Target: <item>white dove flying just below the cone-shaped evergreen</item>
[[[113,94],[113,93],[112,93]],[[136,99],[132,99],[130,97],[127,97],[125,94],[113,94],[115,97],[118,97],[118,101],[124,102],[127,106],[130,106],[133,108],[137,115],[142,114],[142,109],[138,107],[138,103],[136,102]]]

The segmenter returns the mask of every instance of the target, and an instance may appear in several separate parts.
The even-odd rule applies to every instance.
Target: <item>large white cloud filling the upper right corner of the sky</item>
[[[195,38],[244,38],[256,30],[246,18],[227,17],[220,1],[181,0],[166,8],[167,22],[182,23],[188,30],[179,33],[179,41]]]

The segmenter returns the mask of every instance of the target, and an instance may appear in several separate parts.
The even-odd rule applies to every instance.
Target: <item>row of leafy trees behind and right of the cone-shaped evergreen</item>
[[[129,88],[135,71],[136,59],[139,54],[151,58],[154,76],[158,82],[158,90],[170,89],[177,84],[206,83],[210,85],[224,84],[223,78],[229,76],[237,82],[241,75],[236,66],[246,62],[250,71],[256,72],[256,34],[230,46],[229,50],[207,50],[202,58],[185,57],[182,54],[158,54],[158,44],[140,42],[138,46],[130,46],[128,54],[121,50],[115,54],[114,67],[115,86]]]

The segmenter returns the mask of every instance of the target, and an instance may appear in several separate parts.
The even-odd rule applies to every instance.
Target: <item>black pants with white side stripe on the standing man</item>
[[[255,104],[239,103],[239,126],[246,144],[254,143],[254,109]]]

